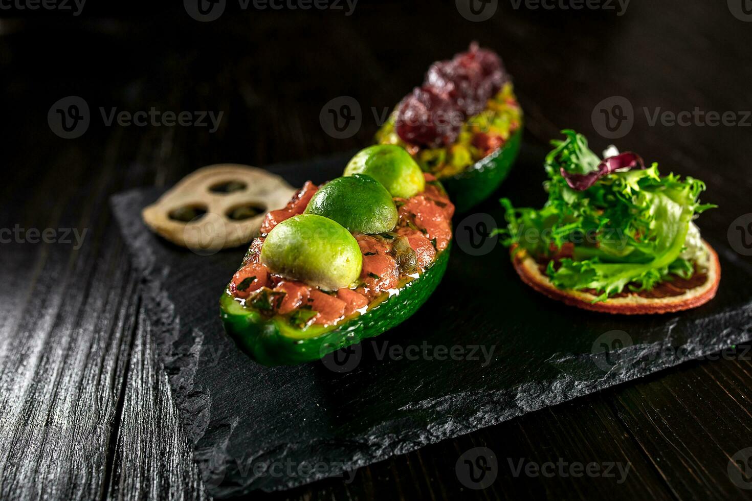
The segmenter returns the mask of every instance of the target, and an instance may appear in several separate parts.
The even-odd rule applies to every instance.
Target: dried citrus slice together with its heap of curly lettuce
[[[545,159],[548,201],[515,208],[507,228],[522,279],[538,291],[585,309],[661,313],[710,300],[720,265],[693,222],[715,207],[700,204],[705,183],[661,176],[633,152],[610,146],[603,158],[565,130]]]

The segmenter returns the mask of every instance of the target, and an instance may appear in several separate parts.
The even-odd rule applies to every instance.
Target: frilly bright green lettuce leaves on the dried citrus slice
[[[687,234],[696,231],[691,223],[697,214],[715,207],[699,204],[705,183],[675,174],[661,177],[653,163],[605,174],[583,191],[572,189],[565,175],[598,171],[602,159],[581,134],[562,134],[566,140],[552,141],[545,160],[544,207],[515,208],[502,198],[508,227],[496,233],[505,237],[505,245],[549,258],[553,285],[597,291],[596,301],[625,288],[648,291],[673,276],[690,278],[698,256],[690,255],[687,245],[697,239],[688,240]]]

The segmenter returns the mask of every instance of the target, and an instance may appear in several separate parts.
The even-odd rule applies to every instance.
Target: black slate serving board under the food
[[[518,205],[542,204],[544,152],[523,145],[499,195]],[[269,170],[299,186],[336,177],[347,158]],[[112,205],[144,276],[150,327],[183,425],[216,497],[347,478],[393,454],[752,338],[752,267],[729,248],[726,228],[703,228],[723,267],[711,303],[681,314],[616,317],[572,309],[530,290],[499,245],[482,255],[463,252],[477,237],[468,227],[488,225],[488,217],[502,223],[498,202],[489,200],[476,209],[487,216],[456,217],[459,241],[444,281],[404,324],[346,356],[262,367],[226,337],[218,318],[218,297],[244,249],[200,256],[151,234],[139,214],[159,193],[126,192]]]

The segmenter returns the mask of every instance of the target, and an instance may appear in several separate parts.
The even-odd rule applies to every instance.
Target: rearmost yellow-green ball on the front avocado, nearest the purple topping
[[[345,176],[353,174],[368,174],[393,197],[410,198],[426,189],[420,166],[396,144],[376,144],[357,152],[344,168]]]

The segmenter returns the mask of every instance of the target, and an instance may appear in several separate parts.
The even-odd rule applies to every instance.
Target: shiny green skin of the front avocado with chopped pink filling
[[[417,279],[399,288],[399,294],[379,298],[362,315],[324,327],[299,329],[287,317],[265,318],[256,309],[242,305],[229,292],[220,298],[225,330],[253,360],[268,366],[315,361],[335,350],[378,336],[402,323],[429,298],[441,282],[449,261],[450,247],[439,252],[433,264]]]

